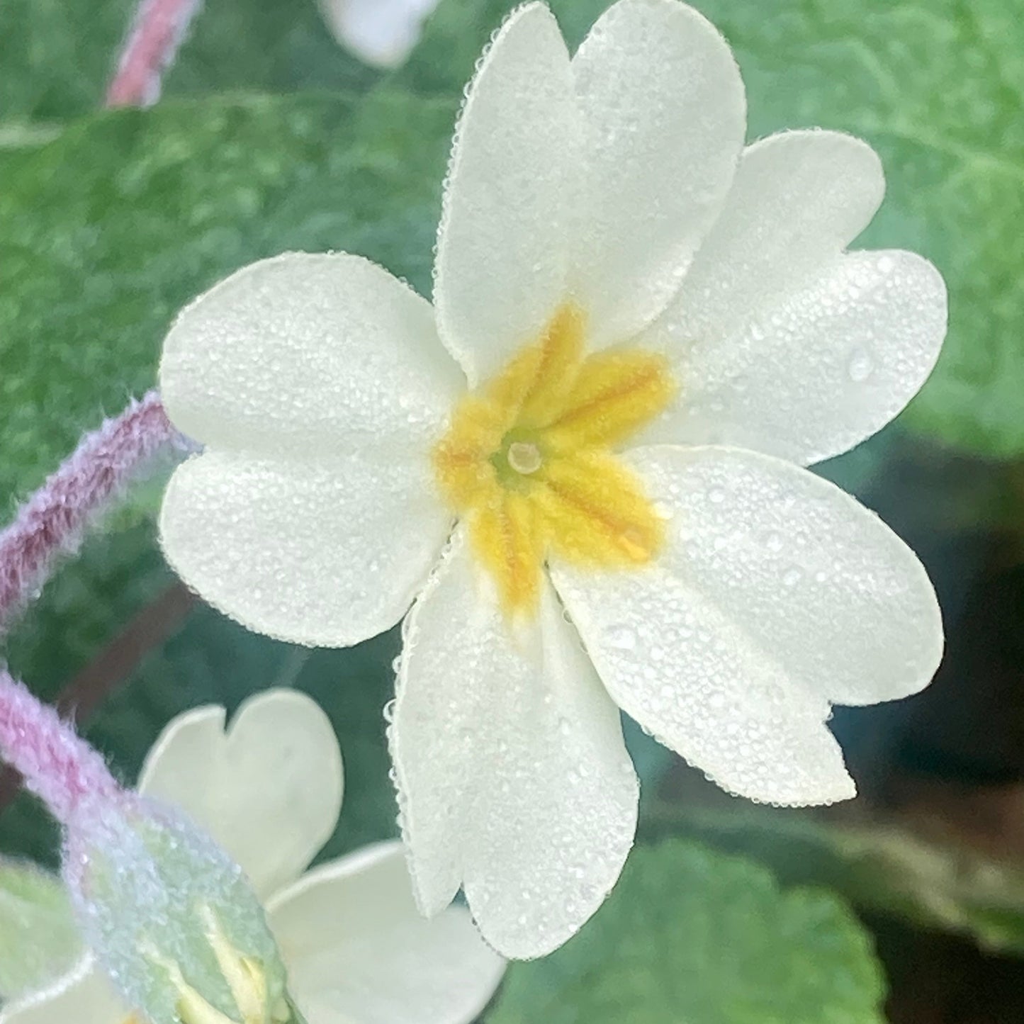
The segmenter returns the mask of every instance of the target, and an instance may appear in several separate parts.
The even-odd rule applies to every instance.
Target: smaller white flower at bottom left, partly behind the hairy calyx
[[[400,843],[306,866],[334,830],[342,766],[327,716],[296,690],[169,723],[142,793],[183,808],[243,866],[263,900],[308,1024],[469,1024],[504,964],[469,914],[425,921]],[[90,959],[50,989],[0,1011],[0,1024],[137,1024]]]

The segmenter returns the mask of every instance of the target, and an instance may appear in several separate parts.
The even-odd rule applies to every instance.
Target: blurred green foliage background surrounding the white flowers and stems
[[[313,0],[208,0],[146,111],[98,108],[128,0],[0,5],[0,500],[151,387],[176,310],[288,249],[362,253],[429,292],[463,83],[506,0],[441,0],[410,60],[345,53]],[[575,44],[604,0],[551,4]],[[950,290],[942,358],[900,419],[819,467],[921,554],[933,686],[838,711],[861,788],[783,812],[727,798],[638,730],[640,847],[595,919],[515,966],[498,1024],[1024,1020],[1024,18],[1020,0],[697,0],[743,71],[751,138],[845,129],[889,191],[858,245]],[[247,633],[164,566],[141,488],[3,641],[131,779],[177,712],[310,692],[347,794],[325,855],[394,834],[381,708],[394,634],[307,651]],[[0,852],[55,833],[0,782]]]

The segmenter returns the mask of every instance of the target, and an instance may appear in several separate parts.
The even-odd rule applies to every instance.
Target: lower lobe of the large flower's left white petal
[[[210,451],[175,470],[160,531],[185,583],[244,626],[345,647],[401,618],[451,521],[426,459]]]

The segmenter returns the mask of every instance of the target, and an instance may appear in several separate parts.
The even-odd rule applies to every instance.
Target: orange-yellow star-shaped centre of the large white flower
[[[531,611],[549,552],[577,565],[642,565],[664,524],[613,447],[675,394],[667,359],[584,356],[583,315],[563,306],[541,339],[463,398],[433,453],[450,504],[506,612]]]

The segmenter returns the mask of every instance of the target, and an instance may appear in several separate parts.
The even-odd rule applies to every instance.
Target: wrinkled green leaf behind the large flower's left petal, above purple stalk
[[[345,249],[428,288],[453,118],[391,94],[165,103],[7,154],[0,500],[152,387],[177,310],[252,260]]]

